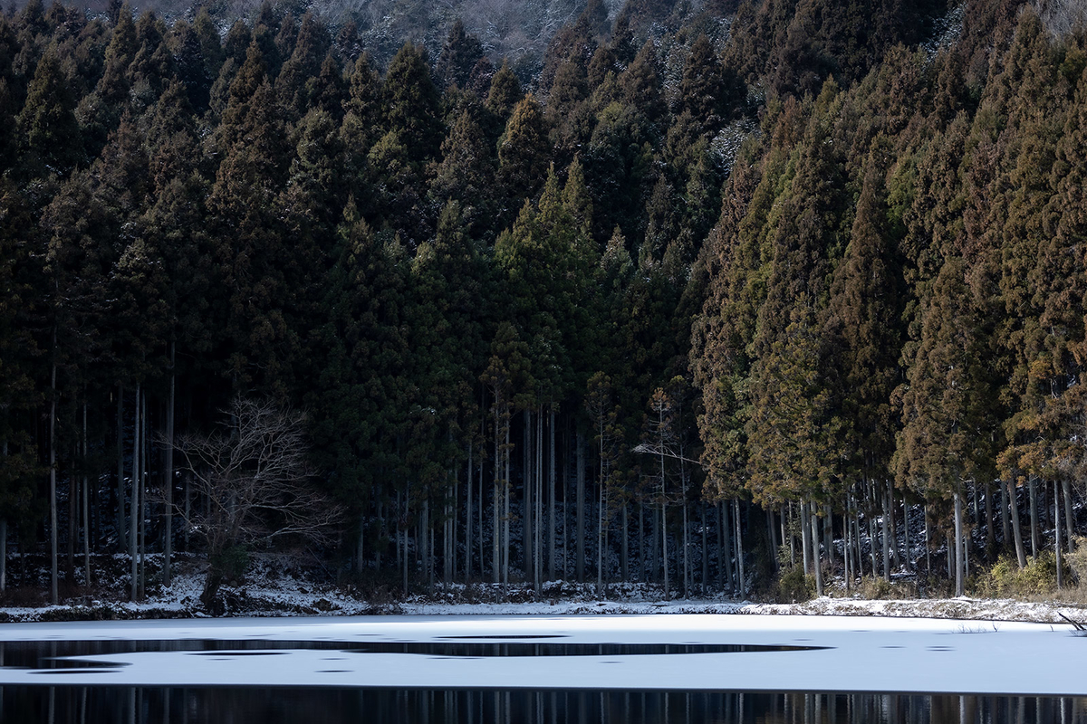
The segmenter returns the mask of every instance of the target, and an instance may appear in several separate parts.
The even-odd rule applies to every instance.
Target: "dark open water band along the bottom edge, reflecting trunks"
[[[871,694],[0,687],[0,721],[87,724],[1087,723],[1087,700]]]

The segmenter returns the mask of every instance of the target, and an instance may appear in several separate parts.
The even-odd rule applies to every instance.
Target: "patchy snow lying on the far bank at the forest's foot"
[[[0,608],[0,621],[64,621],[99,619],[203,618],[199,570],[175,574],[168,588],[157,587],[146,600],[84,599],[76,604]],[[923,617],[983,621],[1032,621],[1087,623],[1087,609],[1059,602],[1014,599],[950,598],[871,600],[822,597],[803,604],[765,604],[725,598],[667,599],[651,584],[613,584],[599,592],[592,584],[552,581],[540,594],[529,586],[499,584],[451,584],[429,595],[402,600],[370,601],[350,589],[323,583],[298,570],[285,570],[275,559],[253,566],[246,585],[226,592],[227,615],[583,615],[645,613],[736,613],[842,617]]]

